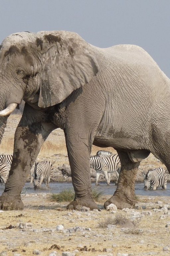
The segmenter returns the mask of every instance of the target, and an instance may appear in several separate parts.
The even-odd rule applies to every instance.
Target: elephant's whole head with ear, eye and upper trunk
[[[21,32],[0,45],[0,141],[6,117],[24,99],[46,108],[62,102],[98,72],[93,47],[66,31]]]

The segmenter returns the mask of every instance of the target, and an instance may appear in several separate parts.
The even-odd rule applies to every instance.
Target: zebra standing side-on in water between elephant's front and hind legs
[[[118,154],[115,155],[103,155],[103,156],[91,156],[90,167],[96,170],[96,186],[101,172],[104,173],[107,184],[110,184],[110,176],[114,171],[116,172],[116,184],[118,182],[119,173],[121,171],[121,162]]]

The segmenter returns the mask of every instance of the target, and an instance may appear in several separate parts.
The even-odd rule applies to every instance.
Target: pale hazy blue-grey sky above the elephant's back
[[[98,47],[143,47],[170,78],[170,0],[0,0],[0,43],[20,31],[68,30]]]

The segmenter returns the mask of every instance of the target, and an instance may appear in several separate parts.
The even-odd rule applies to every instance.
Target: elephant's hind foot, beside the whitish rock
[[[110,204],[115,204],[117,206],[118,209],[122,210],[123,208],[132,208],[135,206],[135,202],[134,201],[124,201],[122,198],[113,195],[111,198],[109,198],[105,203],[104,203],[104,207],[106,209],[106,207]]]

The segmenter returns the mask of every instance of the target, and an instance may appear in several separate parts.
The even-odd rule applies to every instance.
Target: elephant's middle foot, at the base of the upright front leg
[[[92,199],[76,199],[67,205],[68,210],[80,210],[83,206],[90,210],[98,209],[97,204]]]

